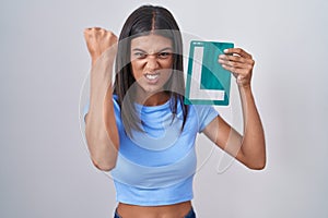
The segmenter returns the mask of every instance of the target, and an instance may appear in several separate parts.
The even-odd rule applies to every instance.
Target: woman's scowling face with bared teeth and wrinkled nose
[[[172,74],[172,40],[153,34],[133,38],[131,65],[138,88],[149,94],[163,90]]]

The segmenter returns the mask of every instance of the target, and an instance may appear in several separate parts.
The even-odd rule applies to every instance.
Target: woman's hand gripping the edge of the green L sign
[[[222,68],[233,73],[239,87],[250,86],[255,61],[245,50],[242,48],[225,49],[224,55],[219,56],[219,63],[222,64]]]

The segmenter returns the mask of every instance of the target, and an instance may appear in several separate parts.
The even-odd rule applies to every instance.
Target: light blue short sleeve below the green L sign
[[[209,105],[194,105],[194,108],[198,118],[198,132],[202,132],[203,129],[219,116],[219,112],[213,106]]]

